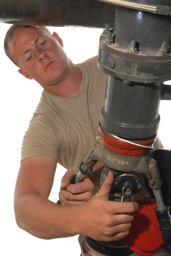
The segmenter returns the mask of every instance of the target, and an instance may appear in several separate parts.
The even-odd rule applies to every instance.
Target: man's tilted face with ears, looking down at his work
[[[69,72],[70,62],[56,34],[37,28],[19,28],[9,42],[19,72],[41,86],[57,85]]]

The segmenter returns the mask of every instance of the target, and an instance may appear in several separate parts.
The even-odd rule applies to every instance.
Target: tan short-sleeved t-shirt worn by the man
[[[78,173],[96,142],[107,75],[97,67],[96,57],[77,66],[83,74],[77,96],[65,98],[43,91],[23,139],[21,160],[50,156]]]

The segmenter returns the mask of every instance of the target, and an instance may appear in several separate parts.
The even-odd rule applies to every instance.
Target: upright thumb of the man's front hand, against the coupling
[[[104,197],[108,199],[109,192],[111,189],[111,185],[114,181],[114,172],[109,171],[108,177],[104,181],[103,185],[101,186],[101,189],[97,192],[97,194],[94,197]]]

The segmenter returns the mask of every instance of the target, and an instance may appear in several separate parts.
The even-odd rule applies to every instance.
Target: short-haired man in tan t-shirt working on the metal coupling
[[[96,141],[107,77],[98,70],[95,58],[75,65],[62,47],[58,34],[51,35],[45,27],[13,25],[5,37],[5,52],[19,73],[44,88],[23,139],[14,197],[16,221],[43,239],[83,234],[116,241],[129,233],[133,212],[139,206],[108,200],[113,173],[95,196],[89,179],[70,184]],[[48,200],[57,161],[72,170],[62,178],[62,205]],[[101,164],[95,165],[94,171],[99,167]]]

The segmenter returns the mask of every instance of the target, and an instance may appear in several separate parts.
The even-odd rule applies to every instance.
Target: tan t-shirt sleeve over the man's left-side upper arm
[[[22,148],[21,161],[32,156],[48,156],[57,159],[60,151],[60,136],[52,118],[38,114],[34,116],[26,131]]]

